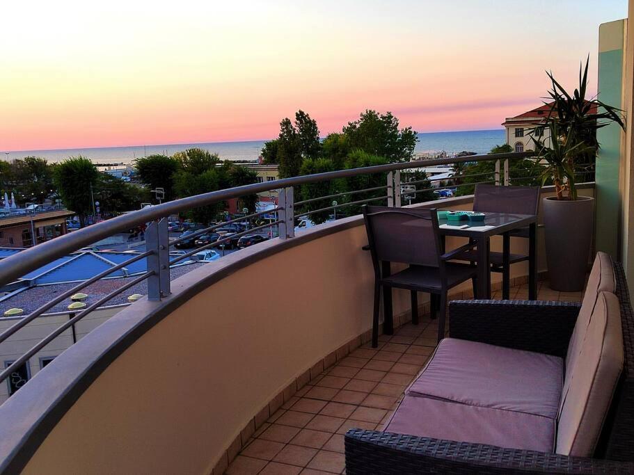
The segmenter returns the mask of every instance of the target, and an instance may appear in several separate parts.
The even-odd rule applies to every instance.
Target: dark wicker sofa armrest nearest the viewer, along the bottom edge
[[[346,473],[361,474],[631,474],[634,464],[350,429]]]

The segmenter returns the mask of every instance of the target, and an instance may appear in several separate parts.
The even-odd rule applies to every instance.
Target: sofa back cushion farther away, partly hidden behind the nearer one
[[[575,329],[573,330],[570,344],[568,345],[566,374],[569,374],[572,367],[576,364],[576,359],[583,340],[585,339],[585,332],[590,323],[592,312],[594,312],[594,305],[596,304],[596,298],[599,296],[599,292],[615,293],[615,287],[615,273],[614,267],[612,266],[612,259],[609,255],[605,254],[605,252],[597,252],[594,258],[594,264],[592,265],[592,271],[590,271],[588,283],[585,286],[583,303],[581,304],[579,316],[575,323]],[[564,380],[563,394],[566,394],[568,390],[567,383],[569,383],[569,378]]]

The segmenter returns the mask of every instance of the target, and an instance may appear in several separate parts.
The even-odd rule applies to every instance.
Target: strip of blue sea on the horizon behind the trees
[[[118,164],[129,165],[141,156],[151,154],[171,155],[192,147],[199,147],[209,152],[217,153],[223,160],[255,161],[264,147],[265,140],[250,140],[246,142],[209,142],[209,143],[179,143],[165,145],[136,145],[132,147],[95,147],[72,148],[64,150],[21,150],[5,152],[0,159],[22,159],[24,156],[39,156],[51,163],[63,161],[70,156],[86,156],[97,165]],[[477,154],[489,152],[495,145],[505,143],[504,129],[473,130],[455,132],[430,132],[418,134],[416,155],[434,155],[446,152],[451,156],[458,152],[468,151]]]

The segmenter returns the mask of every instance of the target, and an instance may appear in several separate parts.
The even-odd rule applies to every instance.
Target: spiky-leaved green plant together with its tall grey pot
[[[542,185],[552,179],[555,186],[555,196],[544,198],[542,207],[550,288],[566,292],[584,287],[594,226],[594,198],[578,195],[576,179],[594,167],[596,131],[612,122],[624,127],[618,108],[585,98],[588,62],[579,69],[579,87],[572,95],[547,72],[553,85],[545,119],[550,137],[531,136],[539,164],[545,165]]]

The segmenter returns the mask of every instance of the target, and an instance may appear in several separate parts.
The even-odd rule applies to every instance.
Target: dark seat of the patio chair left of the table
[[[466,264],[445,264],[447,271],[447,285],[454,287],[465,280],[475,277],[475,267]],[[401,287],[403,289],[441,289],[441,274],[437,267],[431,266],[409,266],[403,271],[394,273],[389,277],[381,279],[382,284],[390,287]]]

